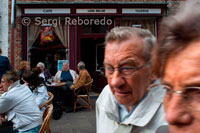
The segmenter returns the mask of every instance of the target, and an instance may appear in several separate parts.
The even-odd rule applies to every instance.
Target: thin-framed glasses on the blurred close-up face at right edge
[[[153,87],[159,87],[158,89],[165,89],[165,98],[164,100],[158,99],[156,96],[152,96],[154,101],[162,102],[168,104],[175,94],[181,96],[186,108],[194,111],[200,111],[200,86],[186,87],[182,91],[173,90],[172,87],[161,84],[150,85],[148,90],[151,90]],[[177,96],[176,95],[176,96]]]

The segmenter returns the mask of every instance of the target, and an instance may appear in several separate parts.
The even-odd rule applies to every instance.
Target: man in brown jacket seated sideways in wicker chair
[[[85,84],[91,82],[92,78],[88,71],[85,69],[85,63],[80,61],[77,65],[79,71],[79,77],[77,81],[70,86],[70,89],[73,90],[75,88],[83,87]]]

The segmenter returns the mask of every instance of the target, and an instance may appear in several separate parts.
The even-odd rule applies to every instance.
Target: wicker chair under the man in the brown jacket
[[[90,96],[89,96],[89,90],[92,87],[93,79],[85,84],[83,87],[75,88],[74,89],[74,112],[77,108],[89,108],[90,111],[92,111],[92,105],[90,103]],[[84,91],[84,94],[82,92]],[[83,105],[77,106],[77,100],[81,101]]]

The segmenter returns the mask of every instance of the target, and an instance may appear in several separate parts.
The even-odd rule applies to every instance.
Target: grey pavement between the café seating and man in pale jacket
[[[65,113],[59,120],[52,119],[50,128],[52,133],[95,133],[95,102],[97,96],[91,97],[92,112],[89,109],[77,109],[77,111]]]

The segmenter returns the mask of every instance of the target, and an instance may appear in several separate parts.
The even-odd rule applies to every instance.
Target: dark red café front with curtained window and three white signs
[[[177,4],[167,0],[16,0],[15,28],[10,31],[12,65],[17,68],[21,60],[28,60],[34,67],[41,61],[54,75],[58,60],[68,60],[74,70],[84,61],[100,91],[106,84],[99,70],[107,31],[130,26],[158,36],[159,22]]]

